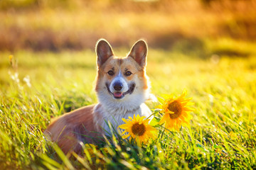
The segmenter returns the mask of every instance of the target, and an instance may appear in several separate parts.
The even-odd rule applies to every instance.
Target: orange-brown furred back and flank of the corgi
[[[94,123],[93,116],[97,116],[97,113],[93,113],[94,108],[95,105],[85,106],[61,115],[50,123],[45,134],[57,142],[65,154],[71,150],[79,153],[82,149],[80,141],[98,142],[102,136],[99,133],[100,127]]]

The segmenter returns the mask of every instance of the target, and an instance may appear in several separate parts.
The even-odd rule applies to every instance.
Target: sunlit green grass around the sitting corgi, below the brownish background
[[[208,54],[230,50],[230,42],[208,42]],[[11,67],[10,53],[1,52],[1,168],[256,169],[256,56],[247,43],[244,48],[242,42],[232,43],[233,50],[249,55],[220,53],[203,60],[178,50],[149,49],[152,93],[178,96],[186,88],[196,108],[191,127],[160,134],[142,147],[112,139],[93,149],[95,157],[72,160],[42,132],[50,118],[97,102],[95,53],[19,51],[11,54],[17,63]],[[127,51],[114,49],[121,56]],[[153,109],[157,103],[148,104]]]

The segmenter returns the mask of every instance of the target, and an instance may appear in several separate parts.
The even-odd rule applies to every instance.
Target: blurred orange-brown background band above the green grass
[[[0,51],[94,50],[99,38],[210,57],[255,54],[253,0],[1,0]]]

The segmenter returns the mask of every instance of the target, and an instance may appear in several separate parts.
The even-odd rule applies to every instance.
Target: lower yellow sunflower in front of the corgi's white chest
[[[149,119],[144,120],[144,118],[145,116],[140,117],[139,115],[134,115],[133,119],[131,117],[127,120],[122,118],[125,124],[119,125],[119,128],[124,129],[123,138],[131,136],[139,144],[147,142],[150,138],[154,139],[157,130],[149,125]],[[125,135],[127,132],[128,134]]]

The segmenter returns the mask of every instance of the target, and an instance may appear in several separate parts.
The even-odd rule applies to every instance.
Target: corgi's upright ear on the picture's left
[[[100,39],[96,44],[96,54],[97,54],[97,65],[101,66],[107,59],[114,55],[112,47],[107,40]]]

